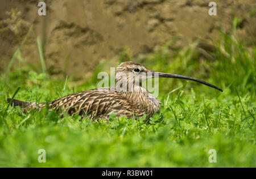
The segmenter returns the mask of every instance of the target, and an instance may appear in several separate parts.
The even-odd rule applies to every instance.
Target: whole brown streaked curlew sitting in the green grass
[[[104,118],[108,120],[110,114],[117,117],[141,118],[146,115],[149,119],[154,113],[159,113],[161,101],[142,86],[142,82],[149,78],[180,78],[193,80],[222,91],[220,88],[189,76],[167,74],[152,71],[136,62],[122,62],[115,70],[115,86],[102,87],[88,91],[72,93],[47,103],[24,102],[7,99],[14,106],[20,106],[23,112],[49,108],[61,114],[79,114],[82,118],[93,120]]]

